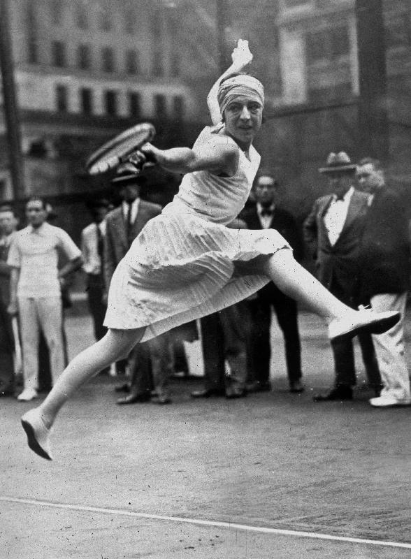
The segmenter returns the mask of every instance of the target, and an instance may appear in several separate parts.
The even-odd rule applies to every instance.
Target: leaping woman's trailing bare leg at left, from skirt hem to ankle
[[[98,342],[82,351],[67,365],[55,386],[41,404],[41,416],[47,428],[52,426],[59,409],[88,379],[108,367],[110,363],[126,358],[143,337],[145,328],[109,330]]]

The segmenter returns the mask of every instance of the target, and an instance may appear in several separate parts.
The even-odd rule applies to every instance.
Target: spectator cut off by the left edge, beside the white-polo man
[[[7,264],[10,241],[18,220],[13,208],[0,206],[0,396],[14,393],[13,328],[7,307],[10,300],[10,271]]]

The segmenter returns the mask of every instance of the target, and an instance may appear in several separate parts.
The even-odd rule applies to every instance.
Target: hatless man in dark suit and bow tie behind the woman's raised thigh
[[[250,229],[274,228],[294,249],[294,257],[301,261],[303,242],[294,217],[277,205],[279,184],[270,173],[261,172],[257,177],[254,194],[257,203],[243,210],[241,217]],[[254,391],[271,389],[270,383],[270,326],[271,308],[284,335],[287,375],[291,392],[302,392],[301,342],[298,333],[297,305],[270,282],[249,301],[252,316],[249,364]]]

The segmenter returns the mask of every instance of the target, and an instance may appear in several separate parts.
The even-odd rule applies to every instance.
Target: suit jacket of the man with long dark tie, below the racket
[[[150,219],[159,214],[161,214],[160,205],[140,199],[137,217],[133,224],[133,238],[137,237],[138,233],[140,233]],[[124,258],[130,248],[127,240],[127,226],[124,222],[122,205],[108,213],[106,223],[106,238],[104,242],[104,274],[106,286],[108,287],[117,264]]]

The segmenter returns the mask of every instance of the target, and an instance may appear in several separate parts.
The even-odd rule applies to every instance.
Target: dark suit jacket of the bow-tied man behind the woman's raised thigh
[[[243,212],[241,212],[240,218],[244,220],[249,229],[262,228],[257,212],[257,205],[255,204],[245,208]],[[276,229],[278,233],[289,242],[294,250],[294,258],[296,261],[301,261],[303,259],[303,240],[298,224],[291,213],[276,206],[273,218],[271,219],[270,228]],[[273,282],[270,282],[259,291],[259,296],[264,296],[264,298],[273,300],[273,298],[278,298],[283,296],[283,294]]]

